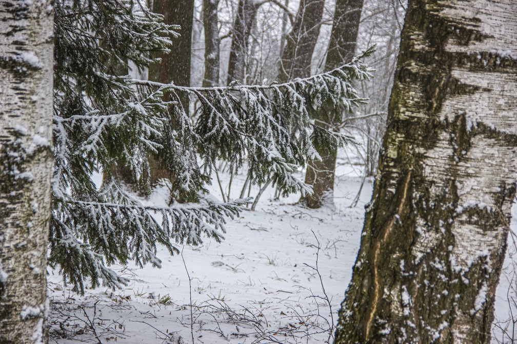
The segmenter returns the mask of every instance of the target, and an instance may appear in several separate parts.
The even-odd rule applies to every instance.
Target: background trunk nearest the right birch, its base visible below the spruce
[[[331,71],[352,60],[355,54],[362,4],[363,0],[336,1],[325,71]],[[322,111],[318,113],[318,120],[327,123],[327,128],[338,130],[337,126],[342,122],[342,113]],[[305,200],[302,199],[302,202],[310,208],[319,208],[324,204],[333,203],[336,176],[337,146],[315,144],[315,147],[322,160],[309,161],[305,183],[312,185],[313,193]]]

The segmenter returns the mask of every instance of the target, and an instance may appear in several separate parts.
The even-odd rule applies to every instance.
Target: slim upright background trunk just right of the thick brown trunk
[[[203,87],[213,87],[219,84],[218,4],[219,0],[203,0],[203,25],[205,28],[205,77]]]

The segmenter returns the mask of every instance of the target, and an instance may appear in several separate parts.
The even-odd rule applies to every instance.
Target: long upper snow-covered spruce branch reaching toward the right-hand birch
[[[313,133],[337,145],[353,139],[333,133],[314,122],[318,111],[351,112],[368,99],[359,97],[353,79],[369,79],[372,70],[361,62],[368,51],[332,71],[289,83],[229,87],[182,87],[146,80],[135,85],[160,90],[164,94],[189,93],[199,100],[193,136],[196,152],[204,161],[230,160],[240,167],[244,155],[250,158],[248,175],[254,184],[271,181],[283,194],[310,192],[290,174],[293,168],[318,159],[311,138]],[[173,112],[181,121],[187,117],[180,106]]]

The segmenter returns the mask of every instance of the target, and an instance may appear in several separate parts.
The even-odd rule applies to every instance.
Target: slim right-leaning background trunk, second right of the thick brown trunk
[[[228,62],[227,84],[232,81],[245,82],[246,55],[251,29],[255,24],[258,6],[254,0],[239,0],[232,28],[232,47]]]

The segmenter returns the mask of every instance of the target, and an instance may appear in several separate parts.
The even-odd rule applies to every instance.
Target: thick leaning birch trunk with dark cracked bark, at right
[[[517,1],[410,0],[335,343],[490,343],[516,119]]]

